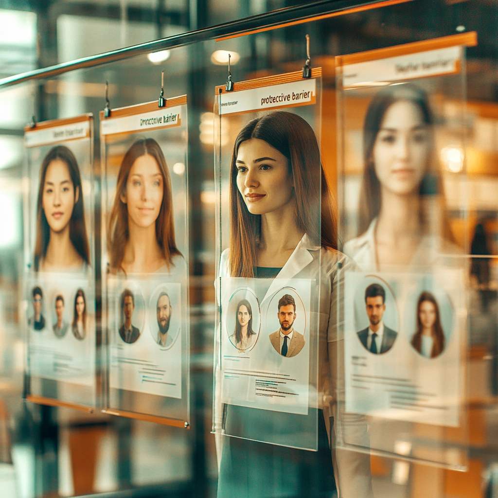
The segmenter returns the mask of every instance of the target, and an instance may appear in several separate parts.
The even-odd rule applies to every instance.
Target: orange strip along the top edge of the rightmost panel
[[[474,47],[477,45],[476,31],[468,33],[452,34],[441,38],[431,38],[430,40],[415,41],[393,47],[378,48],[367,50],[366,52],[357,52],[348,55],[336,55],[336,66],[346,66],[348,64],[357,64],[359,62],[370,62],[389,57],[398,57],[400,55],[409,55],[428,50],[437,50],[440,48],[456,46]]]

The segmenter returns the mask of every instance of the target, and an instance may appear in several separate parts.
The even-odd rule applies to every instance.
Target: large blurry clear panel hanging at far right
[[[340,417],[337,444],[464,470],[465,54],[409,45],[338,68],[340,241],[357,268],[343,274],[337,399],[365,417],[370,441]]]

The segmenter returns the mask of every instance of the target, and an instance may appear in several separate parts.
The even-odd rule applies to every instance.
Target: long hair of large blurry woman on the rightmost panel
[[[419,196],[422,200],[420,220],[422,227],[427,228],[429,217],[438,214],[427,212],[430,206],[424,206],[423,201],[436,199],[438,210],[441,214],[438,222],[438,235],[454,242],[446,212],[443,181],[438,160],[434,154],[434,116],[432,114],[429,99],[424,90],[411,83],[403,85],[390,85],[375,94],[365,115],[363,126],[363,160],[364,170],[359,197],[359,220],[358,235],[362,235],[370,226],[372,220],[380,212],[380,182],[375,173],[373,163],[373,146],[379,132],[380,126],[387,110],[396,102],[405,101],[415,105],[422,114],[423,123],[428,127],[431,140],[431,153],[426,167],[426,172],[419,187]],[[424,208],[425,211],[424,211]]]

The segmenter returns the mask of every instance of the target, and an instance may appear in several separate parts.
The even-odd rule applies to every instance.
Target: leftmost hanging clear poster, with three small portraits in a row
[[[26,128],[25,146],[24,395],[35,402],[92,411],[96,404],[93,117]],[[59,246],[55,242],[64,229],[68,238],[71,232],[70,250],[64,249],[64,241]]]

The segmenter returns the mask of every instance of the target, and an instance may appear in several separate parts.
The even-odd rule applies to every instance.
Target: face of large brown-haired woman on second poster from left
[[[157,161],[149,154],[135,159],[121,200],[128,210],[128,222],[146,228],[159,216],[163,196],[163,179]]]

